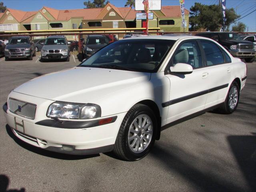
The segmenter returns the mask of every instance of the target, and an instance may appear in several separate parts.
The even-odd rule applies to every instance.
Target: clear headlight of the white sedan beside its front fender
[[[101,116],[101,108],[90,103],[54,102],[49,106],[47,116],[64,119],[92,119]]]

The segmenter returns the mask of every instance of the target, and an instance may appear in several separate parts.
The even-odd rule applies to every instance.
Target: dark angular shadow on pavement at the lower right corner
[[[252,191],[256,191],[256,133],[228,136],[227,140],[244,177]]]

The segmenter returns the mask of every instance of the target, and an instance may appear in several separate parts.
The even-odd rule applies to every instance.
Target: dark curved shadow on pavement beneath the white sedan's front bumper
[[[94,158],[100,156],[100,154],[95,155],[68,155],[68,154],[62,154],[57,152],[48,151],[45,149],[41,149],[39,147],[32,146],[26,142],[23,142],[19,138],[17,138],[14,133],[12,132],[10,126],[6,124],[6,132],[7,134],[21,147],[23,147],[26,150],[29,150],[33,153],[47,156],[50,158],[56,158],[56,159],[62,159],[62,160],[80,160],[80,159],[87,159],[87,158]]]

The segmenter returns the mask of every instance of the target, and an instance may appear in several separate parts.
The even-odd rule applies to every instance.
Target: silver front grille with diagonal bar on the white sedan
[[[10,112],[22,117],[34,119],[36,114],[36,105],[25,101],[9,98],[8,104]]]

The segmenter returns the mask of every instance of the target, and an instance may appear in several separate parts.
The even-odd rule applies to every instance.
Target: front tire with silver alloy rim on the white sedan
[[[113,148],[114,154],[127,161],[140,160],[153,147],[156,128],[154,112],[146,105],[134,105],[120,126]]]

